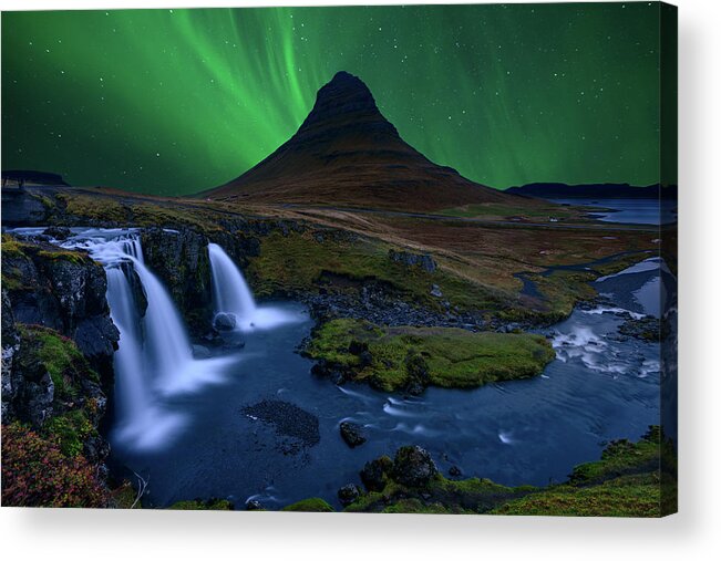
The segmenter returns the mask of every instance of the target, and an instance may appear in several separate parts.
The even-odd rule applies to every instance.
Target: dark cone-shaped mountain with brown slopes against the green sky
[[[528,205],[428,159],[401,138],[368,86],[348,72],[318,91],[312,111],[288,142],[202,196],[414,211],[480,202]]]

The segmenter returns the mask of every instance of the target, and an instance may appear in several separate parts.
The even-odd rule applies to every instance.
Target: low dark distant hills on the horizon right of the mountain
[[[659,190],[660,189],[660,190]],[[635,187],[629,184],[605,183],[587,185],[566,185],[564,183],[531,183],[521,187],[508,187],[505,193],[542,199],[676,199],[678,187],[659,184]]]

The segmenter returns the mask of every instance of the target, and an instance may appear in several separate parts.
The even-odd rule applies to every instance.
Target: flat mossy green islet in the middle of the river
[[[555,353],[545,337],[454,328],[379,328],[333,320],[313,332],[306,354],[385,392],[409,384],[476,387],[539,374]]]

